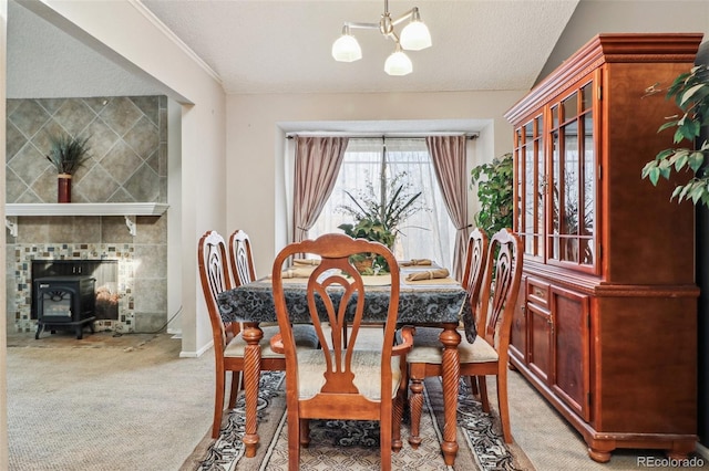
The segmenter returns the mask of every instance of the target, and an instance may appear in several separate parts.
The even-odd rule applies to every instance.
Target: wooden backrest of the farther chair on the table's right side
[[[463,313],[463,324],[465,332],[471,332],[471,326],[475,326],[476,332],[484,328],[485,320],[481,316],[480,289],[483,285],[485,274],[485,261],[487,259],[487,236],[479,228],[471,231],[467,238],[467,250],[465,251],[465,270],[463,272],[463,286],[467,291],[467,302],[470,311]],[[472,332],[471,332],[472,334]],[[469,335],[474,338],[474,335]]]

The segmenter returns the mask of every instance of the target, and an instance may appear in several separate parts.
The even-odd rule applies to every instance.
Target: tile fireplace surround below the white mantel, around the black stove
[[[19,217],[18,243],[7,248],[8,327],[35,329],[37,321],[30,318],[32,260],[117,261],[119,318],[96,321],[95,328],[129,333],[162,327],[167,321],[167,254],[161,239],[167,218],[135,219],[136,236],[132,237],[122,217]],[[55,240],[54,234],[62,240],[66,232],[90,242],[38,241]]]

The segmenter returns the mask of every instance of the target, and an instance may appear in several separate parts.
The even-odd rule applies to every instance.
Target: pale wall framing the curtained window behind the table
[[[503,114],[518,92],[298,94],[227,96],[227,230],[244,229],[254,242],[256,270],[270,272],[285,243],[285,133],[281,123],[489,119],[475,144],[481,161],[512,149]],[[301,129],[318,130],[318,129]],[[472,191],[472,190],[471,190]]]

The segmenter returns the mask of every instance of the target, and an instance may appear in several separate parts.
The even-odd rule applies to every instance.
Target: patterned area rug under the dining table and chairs
[[[260,444],[255,458],[244,457],[243,399],[225,419],[217,440],[209,435],[185,461],[182,471],[287,470],[288,437],[281,373],[264,373],[260,379],[258,405],[258,433]],[[392,469],[397,470],[533,470],[522,450],[502,440],[496,415],[482,411],[481,405],[470,398],[461,381],[458,414],[458,442],[460,450],[454,467],[446,467],[440,451],[443,427],[443,397],[440,378],[428,378],[424,391],[424,411],[421,418],[419,449],[407,442],[408,418],[401,436],[404,446],[392,453]],[[310,447],[301,449],[300,469],[315,471],[347,468],[351,471],[378,470],[379,425],[372,421],[312,420]]]

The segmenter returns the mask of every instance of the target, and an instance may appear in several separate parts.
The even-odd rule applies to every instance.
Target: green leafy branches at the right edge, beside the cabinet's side
[[[682,114],[668,117],[658,133],[675,129],[674,144],[687,140],[687,147],[659,151],[655,160],[645,165],[641,176],[657,186],[660,177],[669,179],[672,170],[679,172],[685,169],[690,174],[689,181],[675,187],[670,199],[677,197],[678,202],[686,199],[693,205],[709,207],[709,142],[705,140],[701,145],[698,142],[701,129],[709,124],[709,67],[697,65],[680,74],[667,90],[667,98],[674,100]]]

